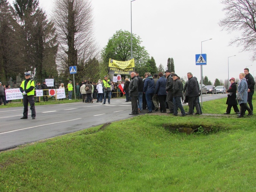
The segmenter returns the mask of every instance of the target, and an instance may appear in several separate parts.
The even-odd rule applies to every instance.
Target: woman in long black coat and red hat
[[[239,114],[239,109],[238,109],[238,103],[236,100],[236,83],[235,83],[235,78],[229,79],[231,82],[231,85],[229,86],[229,89],[227,90],[228,92],[228,98],[226,104],[228,105],[226,113],[224,114],[230,114],[231,108],[233,107],[234,111],[236,114]]]

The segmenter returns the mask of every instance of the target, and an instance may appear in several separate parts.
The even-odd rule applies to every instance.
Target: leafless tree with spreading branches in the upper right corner
[[[230,44],[243,46],[243,51],[251,51],[256,60],[256,1],[255,0],[222,0],[226,17],[219,25],[229,32],[240,31],[240,37],[231,40]]]

